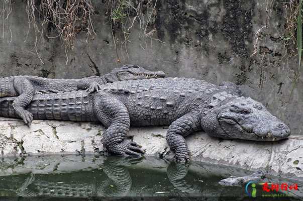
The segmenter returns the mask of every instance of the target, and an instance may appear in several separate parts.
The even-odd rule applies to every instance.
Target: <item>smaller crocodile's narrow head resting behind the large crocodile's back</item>
[[[163,71],[149,71],[137,65],[124,65],[121,68],[114,69],[111,73],[120,81],[165,77]]]

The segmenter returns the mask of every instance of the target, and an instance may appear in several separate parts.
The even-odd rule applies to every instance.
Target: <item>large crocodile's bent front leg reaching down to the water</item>
[[[184,137],[201,130],[198,120],[193,117],[196,115],[186,114],[175,120],[168,128],[166,141],[175,152],[174,160],[177,162],[189,162],[189,150]]]

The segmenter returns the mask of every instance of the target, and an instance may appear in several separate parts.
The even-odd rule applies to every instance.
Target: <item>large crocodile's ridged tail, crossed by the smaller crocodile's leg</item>
[[[0,116],[19,118],[13,108],[16,97],[0,98]],[[36,94],[25,108],[40,120],[98,121],[90,101],[90,95],[83,90],[51,94]]]

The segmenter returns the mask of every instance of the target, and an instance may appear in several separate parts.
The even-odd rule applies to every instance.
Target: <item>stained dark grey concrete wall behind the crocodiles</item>
[[[215,84],[230,80],[242,85],[246,95],[259,100],[273,115],[284,120],[292,135],[302,135],[302,79],[286,104],[292,87],[290,79],[294,77],[291,70],[296,69],[297,61],[289,57],[291,52],[280,37],[285,36],[284,4],[269,5],[270,20],[267,20],[266,1],[255,0],[249,4],[238,0],[158,1],[157,32],[153,37],[165,43],[139,37],[142,33],[139,24],[135,24],[131,43],[127,44],[128,56],[124,48],[122,51],[119,48],[122,63],[117,63],[106,14],[108,2],[92,2],[96,10],[92,18],[96,36],[87,45],[85,33],[79,33],[75,41],[75,60],[65,65],[60,39],[46,37],[46,34],[56,35],[51,27],[39,38],[37,51],[44,64],[41,63],[33,49],[35,33],[32,28],[27,37],[26,1],[14,1],[8,24],[4,30],[0,26],[5,33],[0,40],[0,76],[31,74],[79,78],[102,75],[122,64],[132,63],[163,70],[172,77],[194,77]],[[1,4],[1,10],[2,7]],[[255,34],[266,22],[268,28],[262,29],[259,35],[257,53],[251,56],[255,50]]]

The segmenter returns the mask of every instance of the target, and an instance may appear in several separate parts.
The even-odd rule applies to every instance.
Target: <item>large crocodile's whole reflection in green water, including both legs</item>
[[[142,158],[107,157],[98,170],[92,170],[92,172],[96,172],[95,174],[86,171],[83,173],[67,172],[64,173],[65,175],[55,173],[35,175],[30,173],[27,177],[25,175],[9,176],[11,179],[5,178],[6,182],[2,183],[0,189],[15,192],[14,195],[18,196],[126,196],[128,193],[133,196],[150,196],[157,195],[157,192],[163,191],[164,188],[165,190],[169,189],[165,193],[166,196],[186,196],[188,193],[197,193],[196,195],[198,195],[201,193],[198,186],[187,184],[184,180],[189,169],[188,163],[176,164],[171,162],[167,168],[167,176],[172,186],[167,185],[169,182],[165,186],[154,185],[158,183],[154,182],[147,187],[144,185],[145,182],[141,182],[141,185],[136,184],[136,187],[132,187],[132,178],[128,167],[141,161]],[[102,176],[101,172],[105,173],[107,177]],[[96,175],[99,177],[92,179]],[[133,176],[137,177],[136,173]],[[165,173],[163,176],[165,177]]]

